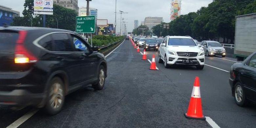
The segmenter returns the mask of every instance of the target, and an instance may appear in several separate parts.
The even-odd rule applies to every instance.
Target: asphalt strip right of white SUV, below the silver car
[[[220,68],[220,69],[223,69],[225,71],[230,72],[231,66],[236,62],[205,56],[205,62],[204,63],[207,64],[207,65],[217,67],[217,68]],[[218,70],[218,69],[216,69],[216,70]]]

